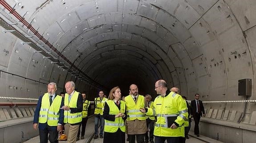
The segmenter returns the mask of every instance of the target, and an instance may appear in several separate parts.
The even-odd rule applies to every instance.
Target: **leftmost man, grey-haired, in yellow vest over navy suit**
[[[37,108],[34,114],[33,128],[39,128],[40,143],[58,143],[58,131],[64,119],[64,98],[56,95],[57,85],[51,82],[47,85],[48,93],[39,97]]]

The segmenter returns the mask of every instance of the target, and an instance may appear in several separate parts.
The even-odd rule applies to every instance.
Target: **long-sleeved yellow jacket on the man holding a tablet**
[[[146,115],[156,115],[157,122],[154,126],[154,135],[166,137],[184,137],[184,124],[188,123],[187,104],[183,98],[174,92],[171,92],[166,97],[161,95],[154,100],[153,109],[147,108]],[[176,129],[167,128],[167,116],[177,116],[175,122],[179,124]]]

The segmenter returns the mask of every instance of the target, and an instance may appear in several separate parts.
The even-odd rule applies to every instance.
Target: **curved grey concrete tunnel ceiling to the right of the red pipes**
[[[119,85],[126,93],[136,83],[141,93],[155,94],[154,82],[162,78],[183,95],[227,100],[222,95],[236,92],[237,79],[254,77],[244,32],[256,20],[237,12],[242,0],[7,2],[17,4],[16,11],[49,43],[108,88]]]

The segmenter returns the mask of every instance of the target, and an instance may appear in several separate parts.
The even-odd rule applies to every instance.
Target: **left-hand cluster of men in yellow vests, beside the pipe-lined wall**
[[[85,126],[88,120],[90,106],[85,100],[85,93],[75,91],[75,83],[65,84],[65,95],[57,95],[57,85],[51,82],[47,85],[47,93],[39,97],[34,114],[33,128],[39,129],[40,143],[58,143],[58,133],[65,126],[68,143],[75,143],[80,135],[84,139]]]

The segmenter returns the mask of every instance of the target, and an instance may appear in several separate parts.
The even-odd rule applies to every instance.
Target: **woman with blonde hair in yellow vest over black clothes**
[[[118,86],[110,90],[109,100],[106,101],[103,111],[103,143],[125,143],[126,104],[120,98],[121,90]]]

